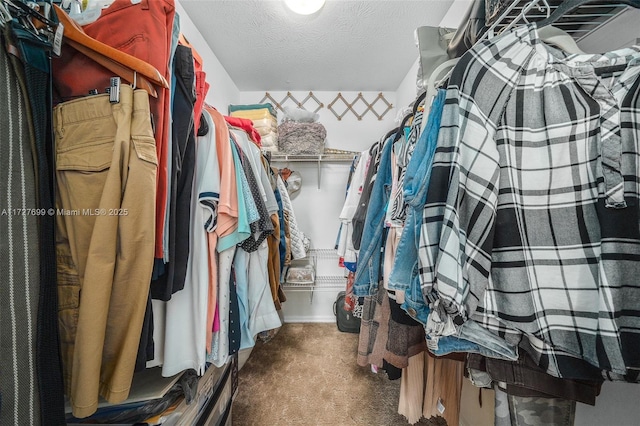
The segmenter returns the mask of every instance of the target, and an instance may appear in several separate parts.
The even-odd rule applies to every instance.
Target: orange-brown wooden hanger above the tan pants
[[[167,80],[153,65],[88,36],[60,6],[54,4],[53,7],[64,25],[64,40],[71,47],[154,97],[158,95],[151,83],[169,88]]]

